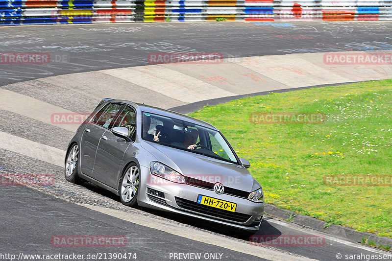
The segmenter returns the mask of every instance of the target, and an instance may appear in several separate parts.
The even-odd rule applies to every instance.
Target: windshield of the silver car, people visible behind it
[[[191,122],[143,113],[142,138],[162,145],[238,163],[220,132]]]

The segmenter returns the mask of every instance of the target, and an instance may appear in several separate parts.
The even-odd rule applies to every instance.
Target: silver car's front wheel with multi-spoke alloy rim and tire
[[[137,206],[139,196],[140,168],[132,163],[120,180],[120,198],[125,206]]]

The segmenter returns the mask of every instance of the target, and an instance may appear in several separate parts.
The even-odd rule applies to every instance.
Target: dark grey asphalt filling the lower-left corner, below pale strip
[[[258,260],[237,251],[151,229],[73,203],[50,197],[23,186],[0,190],[1,253],[84,255],[125,254],[126,260],[170,260],[170,253],[220,253],[222,260]],[[15,224],[23,224],[15,226]],[[56,235],[121,235],[125,246],[58,247]],[[9,237],[23,232],[23,237]],[[108,234],[110,233],[110,234]],[[53,237],[53,240],[51,240]],[[58,241],[60,242],[60,241]],[[21,246],[24,247],[21,247]],[[208,249],[208,252],[205,250]],[[136,256],[134,256],[136,254]],[[131,257],[131,258],[129,258]],[[102,256],[104,259],[104,256]],[[4,259],[1,259],[4,260]],[[92,259],[94,260],[94,259]],[[263,260],[263,259],[260,259]]]

